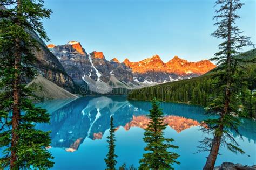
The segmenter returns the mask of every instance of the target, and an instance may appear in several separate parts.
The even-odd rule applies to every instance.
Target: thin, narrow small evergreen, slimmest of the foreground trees
[[[114,147],[116,147],[116,145],[114,144],[114,141],[116,141],[116,139],[114,138],[114,124],[113,124],[113,116],[111,116],[110,119],[110,130],[109,130],[109,136],[107,137],[107,143],[109,143],[109,145],[107,147],[109,147],[109,152],[106,155],[106,158],[104,159],[106,162],[106,166],[107,166],[107,170],[114,170],[115,166],[117,164],[116,161],[116,157],[117,155],[114,154]]]

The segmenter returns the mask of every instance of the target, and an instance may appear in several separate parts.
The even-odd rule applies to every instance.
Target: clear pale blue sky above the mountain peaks
[[[237,24],[255,44],[256,1],[242,2]],[[108,60],[158,54],[164,62],[174,55],[199,61],[218,51],[220,40],[210,36],[214,0],[45,0],[45,7],[53,11],[43,20],[50,43],[76,40]]]

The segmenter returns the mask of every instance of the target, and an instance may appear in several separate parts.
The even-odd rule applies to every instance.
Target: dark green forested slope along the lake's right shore
[[[256,59],[256,51],[251,50],[240,55],[238,58],[252,60]],[[241,77],[241,83],[244,83],[244,93],[241,93],[240,107],[244,110],[242,116],[255,117],[256,116],[256,63],[246,63],[245,71],[246,77]],[[181,80],[160,84],[158,86],[145,87],[138,90],[133,90],[128,98],[133,100],[152,100],[157,98],[160,101],[180,102],[188,104],[197,104],[206,106],[210,103],[212,98],[217,96],[218,90],[213,90],[214,70],[208,72],[200,77],[189,80]]]

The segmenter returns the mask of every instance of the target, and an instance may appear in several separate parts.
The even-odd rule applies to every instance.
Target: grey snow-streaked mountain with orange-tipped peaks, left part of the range
[[[131,69],[117,60],[107,61],[102,52],[87,54],[79,42],[65,45],[48,45],[62,63],[66,72],[79,85],[87,84],[91,91],[109,93],[112,88],[131,88]],[[103,90],[103,91],[102,91]]]

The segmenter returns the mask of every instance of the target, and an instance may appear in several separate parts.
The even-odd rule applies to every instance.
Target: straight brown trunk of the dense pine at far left
[[[19,15],[20,1],[17,2]],[[19,20],[17,19],[17,25],[20,25]],[[19,125],[19,119],[21,118],[21,110],[20,110],[20,93],[21,93],[21,74],[19,73],[21,70],[21,41],[17,38],[15,40],[15,78],[14,78],[14,107],[12,109],[12,138],[11,138],[11,159],[10,159],[10,169],[15,169],[17,156],[16,156],[16,146],[18,141],[17,129]]]

